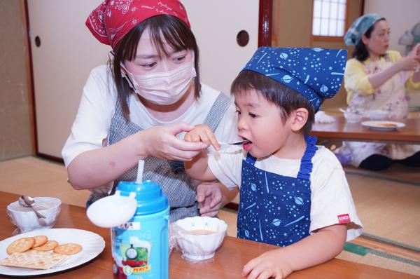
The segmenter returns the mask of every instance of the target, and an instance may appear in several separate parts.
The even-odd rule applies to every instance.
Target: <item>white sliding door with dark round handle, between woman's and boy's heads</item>
[[[420,1],[420,0],[419,0]],[[181,0],[200,48],[202,82],[230,95],[230,85],[258,48],[258,0]],[[217,17],[215,17],[215,13]],[[248,45],[237,44],[246,30]]]

